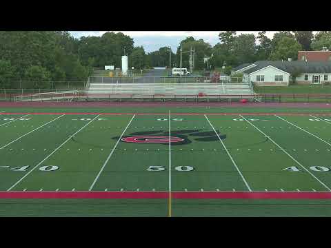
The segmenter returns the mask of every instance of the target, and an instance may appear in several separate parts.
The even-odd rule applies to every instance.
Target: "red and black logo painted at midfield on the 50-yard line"
[[[219,131],[216,130],[217,134]],[[226,134],[219,134],[221,139],[226,138]],[[113,139],[118,140],[119,137],[114,137]],[[203,130],[180,130],[172,131],[169,139],[169,132],[158,130],[149,132],[134,132],[128,136],[123,136],[121,138],[122,142],[126,143],[137,143],[137,144],[163,144],[167,145],[170,141],[171,145],[185,145],[192,143],[194,141],[219,141],[219,138],[214,131],[203,132]]]

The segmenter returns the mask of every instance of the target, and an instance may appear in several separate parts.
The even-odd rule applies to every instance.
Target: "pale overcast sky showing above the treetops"
[[[82,36],[101,36],[108,31],[70,31],[75,37]],[[119,31],[114,31],[119,32]],[[134,39],[134,46],[143,45],[146,52],[159,50],[164,46],[171,46],[172,51],[176,52],[179,42],[186,37],[194,37],[194,39],[203,39],[210,45],[216,45],[219,42],[219,32],[222,31],[120,31],[123,34],[129,35]],[[237,34],[255,34],[259,31],[237,31]],[[267,31],[267,36],[272,39],[272,36],[277,31]]]

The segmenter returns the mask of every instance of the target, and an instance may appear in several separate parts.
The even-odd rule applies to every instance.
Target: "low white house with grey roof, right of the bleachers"
[[[232,69],[244,82],[261,86],[288,86],[295,74],[298,84],[331,83],[331,61],[256,61]]]

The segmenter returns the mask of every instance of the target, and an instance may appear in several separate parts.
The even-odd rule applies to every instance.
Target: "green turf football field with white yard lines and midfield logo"
[[[314,112],[0,110],[0,215],[331,216],[330,130]]]

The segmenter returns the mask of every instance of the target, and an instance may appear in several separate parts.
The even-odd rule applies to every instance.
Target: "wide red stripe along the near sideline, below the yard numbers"
[[[167,199],[168,192],[0,192],[3,199]],[[331,199],[331,192],[172,192],[176,199]]]

